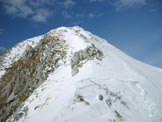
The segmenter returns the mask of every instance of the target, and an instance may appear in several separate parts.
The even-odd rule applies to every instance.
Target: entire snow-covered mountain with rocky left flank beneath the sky
[[[162,69],[80,27],[0,57],[1,122],[162,122]]]

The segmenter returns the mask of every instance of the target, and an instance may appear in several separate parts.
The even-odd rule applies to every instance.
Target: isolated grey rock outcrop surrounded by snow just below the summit
[[[79,67],[82,67],[87,61],[94,59],[102,60],[102,58],[103,53],[93,44],[84,50],[75,52],[71,58],[72,76],[76,75],[79,72]]]

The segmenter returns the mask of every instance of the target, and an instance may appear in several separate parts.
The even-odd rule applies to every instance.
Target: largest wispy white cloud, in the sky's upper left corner
[[[0,0],[6,14],[20,17],[32,18],[35,22],[46,22],[52,15],[46,5],[53,4],[54,0]]]

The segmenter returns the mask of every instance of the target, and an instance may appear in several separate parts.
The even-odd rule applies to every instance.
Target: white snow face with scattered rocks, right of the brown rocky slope
[[[65,63],[8,122],[161,122],[162,70],[80,27],[47,33],[65,40]]]

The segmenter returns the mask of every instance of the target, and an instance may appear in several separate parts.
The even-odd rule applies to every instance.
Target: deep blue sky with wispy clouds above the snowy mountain
[[[162,67],[162,0],[0,0],[0,51],[74,25]]]

